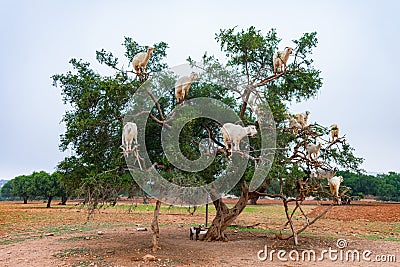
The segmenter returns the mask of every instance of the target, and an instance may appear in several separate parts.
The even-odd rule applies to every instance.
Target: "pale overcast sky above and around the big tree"
[[[167,42],[170,67],[205,51],[223,58],[214,34],[252,25],[264,33],[276,28],[282,48],[316,31],[314,60],[324,85],[292,111],[337,123],[367,171],[400,172],[399,12],[400,1],[382,0],[3,1],[0,179],[53,172],[64,158],[58,144],[65,107],[50,77],[71,70],[71,58],[102,73],[95,51],[122,59],[124,36],[142,45]]]

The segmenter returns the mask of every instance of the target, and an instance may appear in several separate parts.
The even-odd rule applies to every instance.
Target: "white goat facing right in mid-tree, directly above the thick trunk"
[[[233,151],[239,151],[239,143],[246,135],[254,136],[257,134],[257,129],[254,125],[242,127],[233,123],[225,123],[221,129],[222,138],[224,139],[226,149],[232,146]]]

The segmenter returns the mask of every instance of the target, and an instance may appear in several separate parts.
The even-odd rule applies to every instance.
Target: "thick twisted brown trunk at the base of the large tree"
[[[224,234],[226,228],[240,215],[247,205],[249,188],[245,182],[242,183],[242,195],[232,209],[228,209],[222,199],[215,199],[213,204],[217,210],[217,214],[207,231],[204,240],[207,241],[228,241]],[[213,197],[213,196],[211,196]]]

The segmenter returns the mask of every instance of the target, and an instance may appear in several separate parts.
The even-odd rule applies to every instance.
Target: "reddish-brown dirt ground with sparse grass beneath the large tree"
[[[164,207],[159,221],[162,249],[153,253],[151,205],[140,205],[131,212],[128,205],[101,209],[87,221],[86,211],[73,203],[45,209],[40,202],[0,202],[0,266],[400,266],[400,204],[335,206],[299,236],[299,246],[292,240],[276,239],[285,222],[279,202],[260,204],[248,206],[236,222],[259,225],[230,228],[229,242],[189,240],[190,225],[204,223],[204,209],[191,216],[183,208]],[[325,208],[310,202],[305,212],[312,218]],[[210,208],[209,220],[213,214]],[[304,223],[302,217],[297,219],[299,226]],[[347,245],[339,248],[338,239]],[[322,254],[329,249],[337,252],[331,257],[328,252]],[[279,250],[286,253],[281,254],[282,260]],[[316,259],[303,260],[302,253],[310,250],[315,251]],[[351,253],[346,261],[346,253],[355,250],[360,261],[353,261]],[[364,260],[362,253],[367,250],[371,255]],[[155,256],[155,261],[143,261],[146,254]],[[257,254],[267,257],[262,261]],[[319,260],[321,255],[323,260]]]

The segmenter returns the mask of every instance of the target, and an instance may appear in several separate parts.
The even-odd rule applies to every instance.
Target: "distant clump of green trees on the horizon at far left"
[[[67,201],[67,191],[61,183],[61,175],[58,172],[49,174],[40,171],[17,176],[4,184],[0,193],[0,200],[20,198],[24,204],[28,203],[28,199],[46,199],[47,208],[50,208],[53,198],[60,198],[63,205]]]

